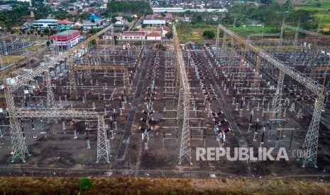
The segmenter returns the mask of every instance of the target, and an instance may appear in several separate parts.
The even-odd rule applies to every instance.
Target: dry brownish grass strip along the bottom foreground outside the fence
[[[4,194],[329,194],[328,182],[244,179],[153,179],[92,177],[79,191],[75,177],[1,177]]]

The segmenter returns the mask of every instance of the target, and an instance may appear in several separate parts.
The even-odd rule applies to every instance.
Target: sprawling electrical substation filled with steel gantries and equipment
[[[23,66],[2,66],[0,167],[140,177],[329,170],[324,35],[284,21],[278,34],[248,37],[219,25],[215,44],[197,47],[172,30],[170,40],[115,45],[101,38],[110,25],[70,49],[24,52]],[[1,36],[1,55],[31,44]],[[197,148],[231,148],[232,158],[234,148],[256,157],[285,148],[289,159],[197,160]]]

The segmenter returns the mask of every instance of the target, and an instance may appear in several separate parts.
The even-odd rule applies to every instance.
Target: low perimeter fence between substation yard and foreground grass
[[[176,170],[79,170],[52,169],[40,167],[0,167],[0,177],[145,177],[182,179],[246,179],[246,180],[296,180],[309,182],[330,182],[330,175],[258,175],[241,176],[224,172],[176,171]]]

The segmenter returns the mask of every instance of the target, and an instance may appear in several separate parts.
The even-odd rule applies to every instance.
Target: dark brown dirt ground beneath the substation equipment
[[[263,69],[270,72],[270,78],[263,77],[260,81],[260,88],[267,88],[262,95],[255,95],[256,99],[253,101],[251,95],[248,95],[246,91],[241,90],[241,94],[236,94],[237,90],[233,92],[233,87],[238,81],[227,81],[226,74],[236,74],[236,69],[231,69],[229,66],[233,61],[224,62],[221,64],[221,69],[216,69],[215,66],[210,65],[210,61],[204,50],[197,50],[195,52],[183,51],[183,57],[187,65],[187,73],[189,78],[189,85],[191,88],[191,100],[190,107],[192,111],[189,116],[191,128],[191,153],[192,153],[192,165],[189,165],[188,160],[182,162],[182,165],[178,165],[178,156],[180,154],[180,143],[182,130],[180,122],[177,124],[175,118],[177,116],[177,99],[170,97],[165,93],[165,87],[174,85],[169,79],[171,73],[174,74],[174,57],[172,52],[158,50],[155,45],[147,45],[143,50],[143,55],[139,57],[139,63],[137,67],[134,67],[136,60],[136,54],[140,51],[139,48],[128,50],[108,51],[107,61],[104,54],[101,52],[101,61],[109,65],[124,65],[128,67],[131,72],[130,82],[132,88],[132,96],[127,97],[127,103],[124,104],[123,113],[119,114],[119,107],[123,99],[123,73],[114,71],[92,71],[92,80],[85,76],[84,72],[77,71],[75,73],[78,99],[70,98],[69,89],[67,87],[68,78],[62,77],[53,82],[53,91],[55,95],[56,107],[75,109],[90,109],[95,106],[95,111],[104,112],[104,106],[107,112],[105,119],[106,125],[109,126],[109,141],[111,146],[111,160],[107,163],[104,159],[101,159],[99,163],[97,160],[97,122],[95,119],[81,119],[80,121],[72,122],[72,119],[47,119],[36,118],[33,119],[33,126],[31,119],[21,119],[23,131],[25,134],[25,141],[31,156],[23,164],[16,161],[11,163],[11,140],[9,133],[9,119],[6,117],[1,118],[1,133],[3,135],[0,138],[1,153],[0,153],[0,167],[2,172],[1,176],[8,175],[7,170],[25,170],[28,174],[31,170],[37,174],[38,170],[45,172],[53,172],[53,170],[60,170],[65,172],[66,170],[79,170],[81,172],[89,172],[91,175],[104,175],[106,170],[114,173],[117,170],[117,174],[121,172],[121,175],[158,175],[160,172],[166,175],[166,177],[177,177],[177,172],[183,172],[186,177],[188,172],[190,177],[201,178],[201,172],[205,177],[209,177],[212,173],[220,175],[227,175],[231,177],[236,176],[248,176],[248,177],[277,177],[283,175],[313,175],[313,174],[326,174],[329,172],[329,129],[324,124],[320,124],[319,129],[319,154],[317,159],[317,168],[314,168],[311,164],[302,168],[301,162],[297,161],[295,155],[297,150],[302,148],[304,137],[307,133],[309,123],[312,115],[303,110],[303,117],[297,118],[296,114],[299,110],[299,105],[296,103],[295,111],[289,111],[287,107],[286,117],[282,117],[285,121],[281,121],[280,124],[276,124],[271,127],[268,121],[269,113],[266,113],[265,120],[263,121],[263,111],[267,112],[268,102],[272,101],[272,98],[268,94],[274,93],[273,89],[270,89],[268,81],[275,85],[275,81],[270,78],[276,78],[276,71],[272,73],[271,66],[265,66]],[[97,53],[92,53],[94,58],[97,58]],[[189,56],[189,57],[188,57]],[[89,57],[93,59],[93,57]],[[148,63],[147,63],[148,62]],[[167,65],[165,66],[165,64]],[[172,64],[172,65],[171,65]],[[34,64],[33,66],[37,66]],[[198,73],[197,70],[198,69]],[[143,71],[145,70],[145,75]],[[169,71],[172,70],[172,71]],[[23,70],[21,70],[23,71]],[[216,73],[216,72],[219,73]],[[225,73],[224,73],[225,72]],[[244,69],[246,74],[246,81],[253,79],[253,70],[248,68]],[[167,76],[165,76],[167,75]],[[141,76],[145,77],[141,79]],[[155,84],[153,85],[153,80]],[[224,86],[221,85],[222,81],[229,85],[229,93],[224,90]],[[243,82],[246,82],[243,81]],[[42,83],[42,78],[38,78],[39,85]],[[212,85],[211,83],[215,83]],[[241,81],[240,81],[241,82]],[[290,83],[291,82],[291,83]],[[201,85],[203,84],[203,86]],[[285,84],[290,85],[292,81],[290,78],[285,77]],[[31,85],[37,85],[35,81],[31,82]],[[139,88],[138,86],[142,86]],[[148,88],[157,87],[155,95],[150,95],[152,91]],[[299,86],[296,88],[299,90]],[[140,92],[139,92],[140,91]],[[138,97],[136,94],[141,93]],[[149,93],[149,95],[148,95]],[[287,92],[286,92],[287,93]],[[19,92],[15,96],[16,107],[34,107],[35,102],[40,104],[42,97],[45,97],[46,90],[41,90],[40,93],[35,94],[35,97],[27,98],[27,105],[23,101],[22,93]],[[206,103],[206,95],[212,99],[210,106]],[[285,94],[285,93],[284,93]],[[65,100],[65,95],[67,100]],[[111,99],[113,95],[114,100]],[[41,97],[41,98],[40,98]],[[148,136],[148,148],[145,148],[145,138],[143,138],[143,131],[139,129],[145,127],[145,122],[141,121],[141,118],[146,119],[146,115],[143,111],[149,112],[145,98],[155,98],[153,100],[153,121],[150,122],[150,126],[153,129],[149,131]],[[165,99],[167,97],[167,99]],[[240,114],[241,98],[246,97],[246,104],[242,105],[242,112]],[[266,98],[264,104],[262,99]],[[285,95],[283,95],[285,97]],[[84,98],[84,102],[83,102]],[[235,99],[233,99],[235,98]],[[290,104],[295,99],[294,96],[289,97]],[[237,101],[238,99],[238,101]],[[166,101],[165,101],[166,100]],[[136,104],[136,107],[135,107]],[[308,102],[307,102],[308,104]],[[309,104],[312,104],[310,102]],[[193,107],[195,105],[195,107]],[[40,107],[40,105],[37,105]],[[209,107],[212,112],[218,113],[221,110],[226,111],[224,114],[216,117],[219,122],[224,119],[232,118],[231,123],[224,122],[220,126],[221,130],[231,127],[232,131],[226,133],[226,141],[224,141],[224,147],[231,148],[231,154],[233,154],[233,148],[242,146],[242,143],[246,143],[249,148],[253,148],[256,155],[258,153],[260,142],[263,138],[263,127],[265,127],[265,134],[263,139],[263,147],[271,148],[275,147],[278,136],[278,148],[286,148],[289,155],[289,160],[279,161],[255,161],[255,160],[235,160],[229,161],[226,158],[220,158],[220,160],[214,161],[202,161],[196,160],[196,148],[197,147],[219,147],[221,139],[216,139],[214,133],[214,117],[209,112]],[[238,110],[236,108],[238,107]],[[259,109],[258,109],[259,108]],[[113,110],[116,110],[113,112]],[[165,111],[166,110],[166,111]],[[170,110],[173,110],[172,112]],[[253,110],[253,118],[251,125],[250,117]],[[135,112],[133,112],[135,111]],[[329,114],[329,107],[326,106],[326,111],[322,114],[327,121]],[[4,113],[6,114],[6,113]],[[114,116],[115,114],[115,116]],[[131,115],[133,114],[133,115]],[[283,114],[283,113],[282,113]],[[128,131],[130,132],[129,138],[123,140],[124,134],[127,131],[127,123],[133,117],[133,124]],[[111,119],[110,119],[111,117]],[[111,125],[114,125],[114,117],[116,117],[117,129],[111,129]],[[167,119],[164,119],[167,118]],[[42,121],[41,121],[42,120]],[[49,121],[49,122],[48,122]],[[90,126],[88,122],[90,122]],[[65,128],[63,128],[63,122]],[[87,122],[87,123],[86,123]],[[258,125],[257,125],[258,123]],[[75,124],[75,125],[73,125]],[[233,128],[232,124],[237,127]],[[178,131],[175,129],[166,129],[166,126],[178,126]],[[248,131],[250,126],[250,130]],[[256,128],[257,127],[257,128]],[[269,136],[268,132],[271,131]],[[77,131],[77,138],[74,138],[74,129]],[[257,133],[255,133],[257,129]],[[285,130],[282,130],[285,129]],[[277,131],[279,130],[279,131]],[[291,141],[291,135],[293,130],[293,136]],[[112,136],[113,133],[113,136]],[[165,137],[165,138],[164,138]],[[255,141],[254,141],[254,140]],[[87,140],[89,140],[90,148],[87,148]],[[126,144],[127,143],[127,144]],[[117,155],[121,153],[121,147],[125,152],[123,160],[118,159]],[[276,156],[278,150],[273,151],[272,155]],[[18,162],[18,163],[17,163]],[[181,173],[182,174],[182,173]],[[156,176],[155,176],[156,177]]]

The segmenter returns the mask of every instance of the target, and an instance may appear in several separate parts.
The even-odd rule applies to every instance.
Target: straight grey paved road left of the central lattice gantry
[[[126,148],[127,148],[128,143],[129,143],[129,137],[131,135],[131,128],[132,128],[132,125],[133,125],[133,119],[134,119],[134,116],[136,114],[136,107],[138,106],[138,100],[140,99],[140,96],[141,96],[141,91],[142,91],[143,83],[144,83],[144,80],[145,80],[145,74],[147,72],[148,64],[149,64],[150,57],[151,57],[152,53],[153,53],[153,51],[151,49],[149,49],[147,57],[145,58],[145,63],[143,64],[143,68],[142,68],[142,71],[141,71],[141,76],[138,80],[138,87],[136,88],[136,94],[135,94],[134,99],[133,99],[133,104],[131,105],[131,110],[129,112],[128,119],[127,119],[126,124],[125,124],[125,129],[124,129],[124,132],[123,132],[123,137],[121,138],[121,143],[119,145],[119,150],[118,150],[118,153],[117,153],[116,160],[123,160],[125,158]]]

